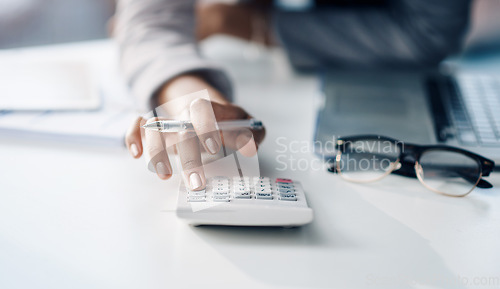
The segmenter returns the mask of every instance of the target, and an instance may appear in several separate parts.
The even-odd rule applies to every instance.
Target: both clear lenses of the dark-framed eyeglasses
[[[349,181],[372,182],[391,173],[398,163],[404,144],[389,140],[356,140],[344,143],[337,159],[340,175]],[[465,196],[481,178],[477,160],[461,152],[430,149],[422,153],[415,166],[419,180],[428,189],[450,195]]]

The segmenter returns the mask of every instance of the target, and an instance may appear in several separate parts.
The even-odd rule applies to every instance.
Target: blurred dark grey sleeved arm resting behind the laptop
[[[294,64],[432,66],[459,50],[469,0],[398,0],[388,7],[276,12]]]

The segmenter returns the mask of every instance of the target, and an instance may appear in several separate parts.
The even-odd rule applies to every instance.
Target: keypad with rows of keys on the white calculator
[[[268,177],[213,177],[205,190],[187,192],[188,202],[230,202],[232,199],[263,201],[297,201],[295,185],[290,179]]]

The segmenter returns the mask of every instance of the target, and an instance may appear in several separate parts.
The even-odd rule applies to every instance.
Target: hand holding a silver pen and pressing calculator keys
[[[183,97],[203,89],[208,89],[210,101]],[[144,131],[141,126],[146,120],[138,118],[127,132],[127,148],[134,158],[140,158],[146,150],[151,157],[150,165],[158,177],[167,180],[172,176],[172,167],[166,148],[175,144],[184,182],[191,190],[200,190],[206,185],[200,143],[201,147],[212,155],[217,154],[224,145],[239,150],[245,156],[252,156],[265,135],[264,129],[252,133],[248,129],[224,131],[222,134],[217,131],[215,121],[248,119],[251,116],[242,108],[229,103],[217,90],[197,76],[184,75],[169,82],[160,91],[158,103],[164,103],[162,108],[165,107],[169,115],[185,115],[189,118],[195,131],[180,133]],[[157,119],[147,121],[155,120]]]

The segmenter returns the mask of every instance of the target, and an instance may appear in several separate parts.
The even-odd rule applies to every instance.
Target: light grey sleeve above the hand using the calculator
[[[226,74],[197,51],[192,0],[120,0],[116,39],[124,75],[142,108],[158,104],[158,93],[174,78],[196,74],[231,97]]]

